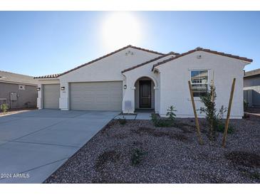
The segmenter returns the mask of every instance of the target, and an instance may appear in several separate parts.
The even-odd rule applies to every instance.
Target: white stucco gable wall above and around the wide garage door
[[[133,52],[133,55],[126,56],[128,51]],[[160,56],[155,53],[140,51],[135,48],[126,48],[123,51],[98,60],[90,65],[85,65],[78,70],[73,70],[71,73],[59,77],[61,87],[66,90],[61,91],[60,108],[61,110],[69,110],[69,85],[73,82],[91,82],[91,81],[116,81],[123,80],[125,85],[125,78],[121,73],[122,70],[130,68],[134,65],[143,63],[152,58]],[[122,86],[123,90],[123,86]]]

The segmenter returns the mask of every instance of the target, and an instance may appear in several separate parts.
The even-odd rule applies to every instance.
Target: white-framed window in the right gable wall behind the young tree
[[[208,70],[192,70],[190,80],[194,97],[206,95],[209,84]]]

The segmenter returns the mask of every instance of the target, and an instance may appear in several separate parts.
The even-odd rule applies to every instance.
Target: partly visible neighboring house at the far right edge
[[[260,68],[244,74],[244,100],[249,106],[260,106]]]

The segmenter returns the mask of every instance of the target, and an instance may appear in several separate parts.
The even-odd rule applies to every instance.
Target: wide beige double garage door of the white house
[[[71,110],[122,110],[121,81],[70,84]]]

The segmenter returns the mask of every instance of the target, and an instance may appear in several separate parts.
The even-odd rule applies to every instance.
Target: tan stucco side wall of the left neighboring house
[[[12,102],[13,108],[26,107],[26,102],[29,102],[28,106],[36,107],[36,86],[25,85],[25,90],[19,90],[19,84],[0,83],[0,89],[0,98],[6,98],[9,107],[11,107],[10,93],[12,92],[17,94],[17,101]]]

